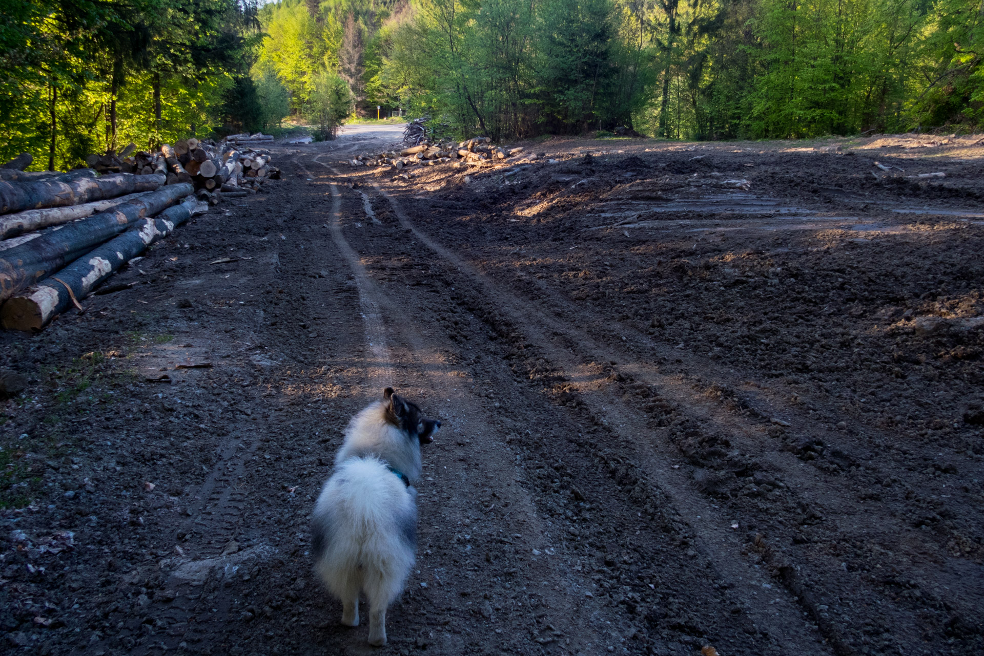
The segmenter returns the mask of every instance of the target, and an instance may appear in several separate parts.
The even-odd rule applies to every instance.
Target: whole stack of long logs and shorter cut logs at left
[[[272,140],[131,144],[68,172],[26,172],[28,153],[0,165],[0,325],[36,330],[82,311],[97,285],[189,217],[279,179],[257,148]]]

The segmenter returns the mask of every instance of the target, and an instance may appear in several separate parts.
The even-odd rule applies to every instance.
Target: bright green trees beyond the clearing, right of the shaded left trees
[[[334,68],[366,109],[459,135],[966,130],[984,107],[982,0],[282,0],[261,17],[261,62],[293,93]]]

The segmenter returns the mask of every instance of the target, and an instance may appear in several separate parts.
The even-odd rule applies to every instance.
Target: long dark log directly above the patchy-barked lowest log
[[[3,251],[3,257],[0,257],[0,302],[111,239],[133,221],[153,216],[193,191],[191,185],[163,187],[138,200],[116,206],[111,211],[93,214]]]

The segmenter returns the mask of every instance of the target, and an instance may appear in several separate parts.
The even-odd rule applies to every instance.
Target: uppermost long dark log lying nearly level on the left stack
[[[116,173],[101,178],[44,182],[0,182],[0,214],[22,209],[63,208],[152,191],[164,181],[154,175]]]

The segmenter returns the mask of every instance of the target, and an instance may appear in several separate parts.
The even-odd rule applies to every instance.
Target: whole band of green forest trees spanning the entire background
[[[0,158],[401,109],[495,139],[984,118],[984,0],[4,0]]]

